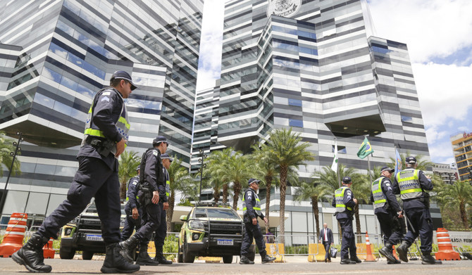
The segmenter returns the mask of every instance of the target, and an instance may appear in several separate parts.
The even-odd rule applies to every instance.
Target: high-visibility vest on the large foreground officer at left
[[[104,132],[99,129],[95,124],[92,122],[92,115],[93,115],[93,110],[94,110],[94,103],[96,100],[101,95],[106,95],[106,93],[111,94],[111,93],[117,93],[120,98],[121,95],[116,91],[116,89],[113,89],[111,87],[106,87],[105,89],[100,90],[95,96],[92,101],[92,105],[90,105],[89,113],[87,114],[87,121],[85,122],[85,131],[84,131],[84,138],[82,139],[82,146],[85,145],[85,139],[87,139],[87,136],[96,136],[99,138],[104,138],[106,139]],[[123,99],[122,99],[123,100]],[[120,117],[118,118],[118,121],[115,123],[116,129],[118,130],[118,133],[125,139],[125,147],[128,146],[128,139],[129,135],[128,132],[130,132],[130,123],[128,120],[128,110],[126,109],[126,105],[123,102],[121,105],[121,113]],[[111,153],[116,153],[116,147],[111,148]]]

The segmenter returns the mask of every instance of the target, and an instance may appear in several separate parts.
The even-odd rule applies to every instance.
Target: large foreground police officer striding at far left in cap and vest
[[[101,232],[106,244],[104,273],[131,273],[139,266],[129,264],[120,255],[120,181],[118,156],[128,143],[128,113],[123,98],[136,89],[128,72],[114,72],[110,86],[97,92],[89,109],[85,133],[77,159],[75,173],[66,200],[46,217],[37,233],[13,254],[13,260],[32,272],[50,272],[44,264],[42,247],[49,238],[57,238],[59,229],[82,212],[95,198],[101,220]]]

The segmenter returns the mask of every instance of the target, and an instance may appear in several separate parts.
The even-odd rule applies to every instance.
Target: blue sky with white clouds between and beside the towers
[[[220,77],[224,0],[205,0],[197,91]],[[430,157],[452,163],[450,136],[472,132],[472,1],[368,0],[375,36],[406,43]]]

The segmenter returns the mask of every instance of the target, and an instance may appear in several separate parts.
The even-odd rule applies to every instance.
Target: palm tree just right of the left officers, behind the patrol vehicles
[[[169,173],[170,184],[170,194],[168,199],[169,209],[166,212],[167,229],[168,231],[173,231],[170,226],[172,226],[172,218],[174,215],[175,193],[178,190],[182,190],[182,186],[191,186],[194,184],[194,181],[192,177],[190,177],[188,169],[182,166],[182,160],[179,160],[178,158],[174,158],[174,161],[170,163],[167,172]]]

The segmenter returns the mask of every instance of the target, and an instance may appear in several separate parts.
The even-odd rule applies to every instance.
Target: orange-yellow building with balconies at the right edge
[[[459,180],[472,183],[472,133],[454,134],[451,143]]]

